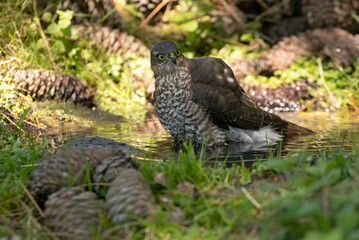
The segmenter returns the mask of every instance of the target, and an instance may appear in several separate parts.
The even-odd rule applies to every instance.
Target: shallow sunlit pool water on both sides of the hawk
[[[45,134],[52,137],[53,141],[59,145],[73,144],[73,139],[78,137],[98,136],[145,150],[154,160],[165,157],[171,152],[172,138],[162,128],[151,107],[133,112],[132,118],[122,118],[99,110],[81,107],[65,105],[52,107],[57,111],[57,119],[60,124],[48,129]],[[286,156],[303,149],[314,153],[341,147],[350,150],[359,144],[358,114],[296,112],[280,114],[280,116],[313,129],[317,134],[287,138],[274,146],[230,144],[225,149],[216,151],[216,157],[227,158],[228,162],[252,162],[256,159],[264,159],[268,154],[278,154],[278,152]],[[129,148],[127,150],[130,151]],[[133,153],[138,153],[138,151],[134,150]]]

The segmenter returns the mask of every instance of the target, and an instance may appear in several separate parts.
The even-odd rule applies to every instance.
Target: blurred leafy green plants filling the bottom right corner
[[[354,239],[351,236],[357,236],[359,226],[357,158],[357,151],[319,157],[302,152],[288,159],[260,163],[258,167],[285,176],[285,182],[274,184],[281,194],[266,202],[265,238],[321,239],[335,232],[333,239]],[[274,189],[273,184],[266,185],[265,189]]]

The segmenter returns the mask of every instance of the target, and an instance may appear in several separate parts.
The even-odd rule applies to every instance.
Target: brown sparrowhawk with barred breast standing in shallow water
[[[151,49],[151,68],[155,112],[179,141],[276,142],[280,132],[311,132],[256,106],[222,59],[189,59],[174,42],[161,41]]]

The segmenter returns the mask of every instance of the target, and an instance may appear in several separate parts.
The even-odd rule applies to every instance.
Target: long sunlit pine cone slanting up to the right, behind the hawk
[[[271,75],[275,70],[284,70],[307,54],[314,55],[333,41],[353,37],[339,28],[315,29],[297,36],[284,38],[271,49],[265,51],[257,61],[257,70]]]

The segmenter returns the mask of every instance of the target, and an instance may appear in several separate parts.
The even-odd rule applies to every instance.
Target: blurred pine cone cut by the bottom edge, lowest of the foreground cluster
[[[62,188],[45,203],[45,225],[68,239],[89,239],[100,224],[98,209],[103,202],[81,187]]]

